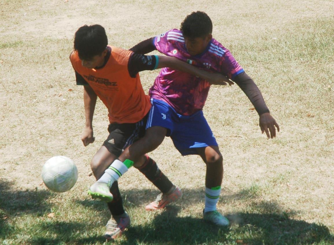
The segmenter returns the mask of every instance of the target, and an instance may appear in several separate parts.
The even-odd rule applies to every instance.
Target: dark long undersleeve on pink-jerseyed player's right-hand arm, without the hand
[[[250,78],[245,72],[238,74],[233,79],[233,82],[235,82],[247,95],[259,115],[269,112],[258,86],[256,86],[252,78]]]

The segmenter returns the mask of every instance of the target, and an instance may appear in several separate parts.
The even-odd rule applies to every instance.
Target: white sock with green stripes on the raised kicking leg
[[[128,160],[128,159],[127,159]],[[109,168],[106,169],[105,173],[102,175],[100,179],[98,179],[98,183],[106,183],[109,186],[111,186],[116,180],[118,180],[119,177],[121,177],[126,171],[128,171],[128,167],[131,167],[132,165],[127,160],[121,162],[120,160],[116,159]],[[130,161],[130,160],[128,160]],[[127,165],[126,165],[127,164]]]

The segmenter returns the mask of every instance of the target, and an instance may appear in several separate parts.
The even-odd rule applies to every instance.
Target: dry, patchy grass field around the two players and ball
[[[101,24],[109,44],[128,49],[208,13],[213,36],[254,79],[280,125],[261,135],[258,115],[237,85],[212,86],[204,114],[224,157],[220,229],[202,220],[205,166],[181,157],[169,138],[150,156],[184,192],[164,211],[145,212],[158,194],[136,169],[120,181],[132,225],[115,244],[334,244],[334,2],[0,0],[0,244],[104,244],[110,218],[87,195],[90,159],[107,137],[99,101],[96,141],[83,147],[82,87],[69,62],[74,32]],[[158,71],[141,73],[145,91]],[[75,186],[43,185],[43,163],[74,160]]]

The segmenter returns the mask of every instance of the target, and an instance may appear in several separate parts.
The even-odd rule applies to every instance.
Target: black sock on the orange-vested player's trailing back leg
[[[173,186],[173,183],[158,168],[156,162],[146,156],[145,163],[138,168],[148,180],[150,180],[162,193],[167,193]]]

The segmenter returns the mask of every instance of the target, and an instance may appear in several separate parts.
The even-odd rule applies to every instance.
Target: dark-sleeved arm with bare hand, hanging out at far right
[[[259,124],[262,133],[266,132],[268,139],[274,138],[276,136],[275,126],[278,132],[280,132],[280,127],[276,123],[275,119],[271,116],[260,89],[254,83],[253,79],[250,78],[245,72],[242,72],[236,75],[235,78],[233,78],[233,81],[247,95],[248,99],[252,102],[256,111],[258,112],[260,116]]]

